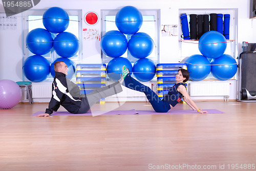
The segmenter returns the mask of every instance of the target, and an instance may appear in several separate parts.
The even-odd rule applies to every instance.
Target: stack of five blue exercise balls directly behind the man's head
[[[33,82],[40,82],[44,81],[50,73],[54,77],[54,69],[51,66],[61,59],[70,65],[68,65],[70,68],[67,77],[71,79],[75,73],[75,67],[68,58],[78,52],[79,41],[74,34],[65,32],[69,26],[68,13],[59,7],[49,8],[42,16],[42,23],[46,29],[31,30],[26,37],[27,48],[34,54],[24,62],[23,71],[26,78]],[[55,38],[52,33],[57,34]],[[60,58],[50,66],[49,61],[42,55],[49,53],[52,48]]]

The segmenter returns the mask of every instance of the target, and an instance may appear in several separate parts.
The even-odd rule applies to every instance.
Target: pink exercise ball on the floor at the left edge
[[[11,109],[22,98],[22,91],[18,84],[9,79],[0,80],[0,108]]]

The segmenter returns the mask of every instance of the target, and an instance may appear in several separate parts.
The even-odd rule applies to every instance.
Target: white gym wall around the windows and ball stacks
[[[207,3],[206,3],[207,2]],[[1,2],[2,3],[2,2]],[[238,54],[242,52],[242,42],[255,42],[256,19],[249,19],[249,0],[168,0],[168,1],[84,1],[84,0],[43,0],[33,9],[48,9],[58,6],[63,9],[82,9],[82,16],[89,12],[95,11],[100,15],[101,9],[120,9],[124,6],[131,5],[138,9],[161,9],[161,24],[178,25],[179,9],[212,9],[212,8],[238,8]],[[4,8],[0,5],[0,12]],[[0,30],[0,79],[11,79],[13,81],[23,80],[22,74],[22,57],[23,57],[23,19],[22,14],[17,16],[17,29]],[[101,23],[95,26],[88,26],[84,20],[82,28],[100,29]],[[160,62],[176,63],[178,62],[179,48],[178,37],[161,37],[160,36]],[[93,63],[101,62],[100,59],[100,42],[82,40],[83,62]],[[233,92],[236,94],[236,91]]]

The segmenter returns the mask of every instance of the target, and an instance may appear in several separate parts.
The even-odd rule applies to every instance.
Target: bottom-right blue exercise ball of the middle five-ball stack
[[[148,58],[137,60],[133,65],[133,74],[140,81],[150,81],[156,74],[155,62]]]

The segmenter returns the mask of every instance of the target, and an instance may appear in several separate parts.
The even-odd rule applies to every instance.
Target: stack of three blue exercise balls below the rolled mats
[[[221,33],[204,33],[198,42],[202,55],[192,55],[185,61],[190,79],[203,80],[210,72],[219,80],[232,78],[237,73],[237,62],[232,56],[224,54],[226,47],[227,40]]]

